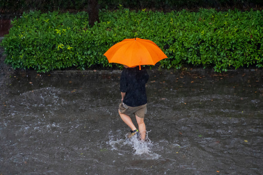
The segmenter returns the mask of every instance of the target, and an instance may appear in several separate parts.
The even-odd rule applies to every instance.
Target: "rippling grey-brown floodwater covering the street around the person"
[[[0,174],[260,175],[262,73],[149,70],[148,142],[125,138],[120,71],[16,73],[1,90]]]

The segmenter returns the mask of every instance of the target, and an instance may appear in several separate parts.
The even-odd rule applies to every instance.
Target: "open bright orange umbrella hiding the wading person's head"
[[[129,67],[155,65],[167,58],[165,53],[148,39],[132,38],[113,45],[104,55],[109,63],[119,63]]]

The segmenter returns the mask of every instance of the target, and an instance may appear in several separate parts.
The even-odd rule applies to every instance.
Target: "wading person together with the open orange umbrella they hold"
[[[145,140],[144,115],[147,111],[145,84],[149,75],[144,68],[141,70],[141,66],[155,65],[167,56],[153,41],[136,37],[114,44],[103,55],[107,57],[109,63],[127,65],[120,78],[122,103],[119,105],[119,114],[124,123],[131,128],[131,136],[140,132],[141,140]],[[136,117],[139,131],[131,121],[132,114]]]

